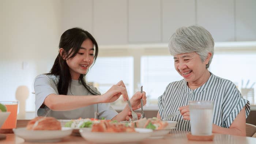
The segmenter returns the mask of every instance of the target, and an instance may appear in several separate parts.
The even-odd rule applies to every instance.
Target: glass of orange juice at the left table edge
[[[1,104],[6,106],[7,111],[10,111],[9,117],[5,120],[1,129],[13,129],[16,128],[17,122],[17,110],[18,110],[18,101],[3,101]]]

